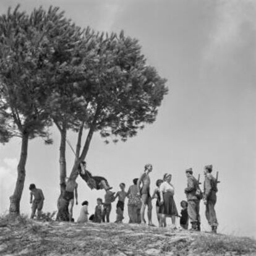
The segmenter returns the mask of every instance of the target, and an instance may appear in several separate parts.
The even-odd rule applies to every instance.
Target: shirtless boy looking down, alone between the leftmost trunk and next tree
[[[42,214],[43,209],[43,201],[45,200],[45,197],[43,195],[43,191],[41,189],[36,189],[35,184],[30,184],[28,189],[30,192],[30,203],[32,203],[32,213],[30,218],[33,219],[35,216],[35,212],[37,210],[37,218],[39,219]],[[33,200],[34,197],[34,200]],[[33,201],[32,201],[33,200]]]

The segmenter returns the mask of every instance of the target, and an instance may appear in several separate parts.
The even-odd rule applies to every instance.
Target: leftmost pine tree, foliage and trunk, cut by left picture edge
[[[28,16],[17,6],[0,17],[0,138],[1,142],[22,139],[17,181],[10,197],[10,213],[14,214],[20,213],[28,140],[40,136],[51,142],[46,128],[51,121],[41,108],[46,93],[40,59],[49,51],[41,15],[38,10]]]

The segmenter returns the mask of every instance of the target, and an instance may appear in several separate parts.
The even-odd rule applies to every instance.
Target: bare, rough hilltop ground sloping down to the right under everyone
[[[256,255],[248,237],[171,231],[138,224],[0,218],[0,255]]]

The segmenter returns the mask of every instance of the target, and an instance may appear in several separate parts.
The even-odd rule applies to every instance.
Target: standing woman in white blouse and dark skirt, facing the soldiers
[[[171,174],[166,173],[163,177],[164,182],[160,186],[161,207],[160,213],[163,221],[163,226],[166,227],[166,217],[170,217],[173,223],[173,228],[176,228],[175,221],[177,213],[176,204],[174,202],[174,187],[171,184]]]

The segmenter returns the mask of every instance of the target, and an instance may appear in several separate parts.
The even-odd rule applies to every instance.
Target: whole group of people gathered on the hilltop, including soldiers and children
[[[213,171],[212,165],[207,165],[204,168],[205,181],[203,184],[203,192],[200,189],[199,181],[193,176],[192,168],[186,169],[187,187],[184,192],[187,200],[181,202],[181,214],[179,215],[174,201],[174,186],[171,184],[171,174],[166,173],[163,179],[156,181],[156,188],[150,195],[150,173],[153,170],[151,164],[146,164],[145,169],[139,179],[133,179],[133,184],[126,192],[126,185],[121,183],[119,185],[120,191],[112,192],[112,187],[109,186],[108,181],[104,177],[92,176],[86,169],[86,163],[83,163],[79,167],[80,176],[87,181],[87,184],[91,189],[105,189],[105,200],[97,198],[95,213],[88,218],[88,202],[82,203],[80,210],[80,216],[77,220],[78,223],[85,223],[88,220],[96,223],[109,222],[109,215],[112,209],[112,203],[118,198],[116,204],[116,223],[122,223],[124,219],[124,202],[128,199],[128,215],[129,223],[146,223],[145,209],[147,208],[148,225],[154,226],[151,219],[152,213],[152,200],[156,199],[156,215],[160,227],[166,227],[166,218],[171,218],[173,228],[176,229],[176,218],[180,218],[180,225],[183,229],[188,229],[189,220],[191,223],[191,229],[193,231],[200,231],[200,201],[203,200],[206,210],[205,216],[208,223],[211,226],[211,231],[216,233],[218,221],[215,213],[217,179],[211,174]],[[32,203],[32,215],[34,217],[36,209],[38,210],[38,216],[41,215],[41,209],[43,207],[43,192],[41,189],[36,189],[34,184],[30,185],[31,200],[32,195],[34,200]],[[64,200],[69,204],[69,220],[74,221],[72,218],[72,209],[74,206],[74,198],[77,203],[77,183],[73,182],[69,184],[67,180],[66,191],[64,192]]]

